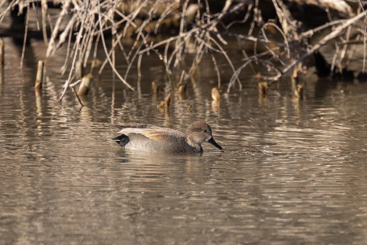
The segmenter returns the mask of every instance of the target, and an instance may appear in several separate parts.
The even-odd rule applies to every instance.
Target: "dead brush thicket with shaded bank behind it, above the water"
[[[91,69],[95,69],[99,43],[102,43],[105,52],[105,60],[99,67],[99,75],[102,74],[106,64],[109,64],[117,77],[131,90],[134,90],[134,85],[132,81],[127,80],[128,73],[132,69],[132,64],[136,62],[140,75],[140,64],[144,55],[158,55],[166,68],[167,79],[172,87],[172,73],[180,69],[180,64],[185,59],[189,48],[195,48],[196,56],[189,68],[179,71],[179,74],[182,72],[180,83],[182,79],[185,80],[195,75],[205,54],[222,55],[233,74],[228,83],[227,93],[235,83],[241,89],[239,75],[245,67],[252,66],[252,64],[262,65],[268,71],[272,71],[272,75],[264,75],[254,69],[254,74],[252,74],[261,81],[271,83],[279,80],[287,72],[304,71],[308,67],[305,62],[306,58],[326,43],[334,40],[337,52],[330,64],[331,76],[334,72],[342,72],[343,61],[348,61],[353,56],[353,52],[348,53],[347,50],[353,50],[356,43],[366,46],[367,11],[364,10],[366,1],[269,0],[266,1],[266,4],[275,9],[276,18],[268,20],[262,17],[259,0],[222,2],[221,10],[213,13],[208,0],[54,0],[54,4],[62,3],[62,5],[57,19],[51,20],[46,0],[40,2],[2,1],[1,4],[8,4],[8,6],[6,11],[0,14],[0,25],[4,16],[15,7],[19,9],[19,15],[25,8],[41,9],[42,22],[39,23],[39,26],[47,47],[46,62],[58,51],[59,47],[62,45],[68,47],[62,74],[67,71],[69,73],[60,100],[70,85],[75,86],[75,80],[79,79],[76,69],[78,64],[85,67],[92,56]],[[317,5],[327,12],[329,22],[307,30],[302,22],[292,16],[291,4]],[[26,12],[26,26],[28,17],[29,11]],[[229,22],[228,19],[234,20]],[[246,35],[231,31],[231,26],[241,23],[246,23],[249,27]],[[47,37],[47,26],[51,29],[50,37]],[[255,32],[256,28],[259,29],[259,32]],[[328,28],[331,28],[328,35],[321,38],[316,44],[309,43],[314,33]],[[163,40],[156,41],[152,38],[170,29],[177,31]],[[269,32],[277,35],[270,37]],[[27,31],[25,31],[26,35]],[[274,39],[274,36],[280,38]],[[123,43],[126,37],[134,40],[129,49]],[[235,66],[226,52],[228,45],[226,40],[228,39],[251,42],[254,46],[253,54],[247,55],[242,50],[244,57],[240,61],[241,65]],[[107,42],[110,43],[107,45]],[[258,46],[263,46],[266,50],[258,53]],[[120,74],[115,68],[113,57],[117,49],[123,53],[128,64],[124,74]],[[213,55],[212,61],[218,73],[218,85],[220,86],[219,70]],[[363,63],[363,71],[364,69]]]

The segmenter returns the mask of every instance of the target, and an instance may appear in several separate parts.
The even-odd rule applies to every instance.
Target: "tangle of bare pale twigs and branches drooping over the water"
[[[0,7],[4,4],[4,2],[5,1],[2,1],[0,3]],[[22,11],[24,7],[27,7],[30,3],[35,2],[35,0],[12,0],[6,8],[6,11],[0,13],[0,24],[5,14],[14,6],[18,5],[19,10]],[[185,59],[185,54],[188,52],[189,45],[192,45],[190,40],[194,40],[193,46],[196,49],[196,56],[186,74],[188,74],[188,76],[193,76],[196,73],[205,54],[210,52],[223,55],[226,59],[226,62],[228,62],[226,65],[229,65],[233,72],[232,78],[228,85],[228,92],[234,81],[237,81],[239,88],[241,89],[241,81],[238,77],[239,73],[247,65],[252,65],[252,62],[263,64],[264,66],[277,72],[275,76],[261,77],[261,79],[268,81],[278,80],[284,73],[288,72],[290,69],[293,69],[295,65],[300,64],[306,57],[313,54],[321,46],[335,37],[342,36],[344,34],[344,30],[348,28],[345,42],[340,48],[341,54],[335,55],[332,64],[337,65],[339,69],[341,69],[341,61],[345,58],[347,45],[350,43],[351,27],[356,25],[357,21],[359,21],[361,18],[367,18],[366,11],[363,11],[350,19],[331,21],[315,29],[298,33],[299,29],[296,25],[296,21],[292,18],[287,6],[285,6],[283,1],[280,0],[272,0],[270,3],[272,3],[275,7],[281,28],[272,22],[264,23],[264,20],[261,17],[261,11],[258,9],[258,0],[226,0],[222,10],[217,14],[210,13],[208,1],[204,0],[206,9],[202,15],[199,11],[199,6],[201,4],[200,0],[197,1],[197,6],[195,6],[195,4],[191,4],[189,0],[108,0],[103,2],[99,0],[65,0],[63,1],[62,9],[54,25],[52,25],[50,15],[47,15],[48,8],[46,3],[46,0],[41,0],[42,32],[45,43],[47,43],[47,38],[45,36],[46,16],[49,18],[48,22],[50,23],[50,28],[52,31],[51,38],[48,41],[46,57],[50,58],[63,43],[68,42],[68,50],[66,53],[66,60],[65,64],[63,65],[62,74],[66,72],[67,68],[70,68],[70,72],[65,84],[69,85],[72,82],[72,79],[75,78],[73,73],[75,72],[74,68],[76,62],[80,62],[80,64],[84,64],[85,66],[91,53],[93,53],[94,59],[96,58],[98,48],[97,44],[101,41],[105,51],[106,59],[99,70],[99,74],[101,75],[103,68],[108,62],[119,79],[132,90],[134,90],[134,88],[127,82],[128,73],[130,72],[134,61],[137,59],[138,76],[140,77],[142,56],[150,55],[150,53],[157,54],[163,61],[168,80],[171,84],[171,88],[173,88],[171,75],[173,72],[175,72],[175,69],[179,68],[179,65]],[[362,5],[361,2],[359,3]],[[252,19],[251,28],[248,32],[248,35],[240,35],[228,31],[224,33],[219,32],[218,25],[222,25],[222,20],[226,16],[230,14],[236,14],[236,11],[246,7],[247,11],[245,9],[246,14],[244,14],[243,20],[231,22],[227,25],[227,28],[234,23],[246,21],[250,16],[250,11],[253,11],[254,18]],[[189,12],[192,12],[193,14],[189,14]],[[330,15],[330,13],[328,14]],[[116,20],[114,15],[120,16],[121,19]],[[66,16],[69,16],[69,20],[65,21]],[[190,16],[194,16],[194,18]],[[28,19],[29,11],[26,15],[26,25],[28,25]],[[139,21],[140,19],[141,21]],[[166,38],[157,43],[154,42],[154,39],[152,39],[153,41],[150,42],[150,37],[152,37],[153,34],[158,33],[160,28],[164,27],[164,25],[167,23],[170,23],[171,25],[176,25],[177,23],[177,28],[179,30],[178,35]],[[120,32],[118,31],[119,25],[125,25],[120,29]],[[252,35],[255,25],[262,25],[260,32],[256,37]],[[270,26],[277,29],[277,31],[283,36],[284,40],[270,40],[265,32],[266,28]],[[304,45],[304,40],[306,38],[309,38],[313,35],[313,33],[330,26],[334,26],[335,29],[329,35],[321,39],[319,43],[308,47]],[[365,24],[363,28],[360,28],[359,30],[363,35],[364,50],[366,49],[366,29],[367,25]],[[25,31],[27,31],[27,28]],[[115,38],[113,39],[112,47],[109,50],[107,48],[105,39],[105,34],[107,31],[111,32],[112,36]],[[61,34],[59,35],[59,40],[56,44],[55,40],[58,36],[58,33]],[[71,46],[73,33],[76,33],[76,41],[73,46]],[[25,35],[27,35],[27,32],[25,32]],[[127,35],[135,35],[135,41],[130,50],[126,49],[121,42],[121,39],[128,37]],[[223,39],[223,36],[235,38],[237,40],[254,42],[255,54],[251,57],[241,59],[241,62],[244,62],[244,64],[239,68],[235,68],[235,61],[231,60],[226,54],[225,46],[227,45],[227,42]],[[95,45],[93,45],[94,42]],[[257,53],[256,47],[258,43],[264,45],[267,51],[263,53]],[[274,45],[270,47],[269,44]],[[118,46],[120,46],[120,49],[128,64],[124,78],[119,74],[119,72],[117,72],[115,67],[116,64],[114,52],[115,47]],[[165,46],[164,51],[163,53],[160,53],[157,48],[163,46]],[[171,46],[174,47],[172,50],[170,50]],[[23,53],[24,47],[25,43],[23,45]],[[281,49],[281,47],[284,47],[284,49]],[[94,48],[94,52],[92,52],[92,48]],[[338,48],[339,46],[337,46],[337,49]],[[287,54],[287,58],[289,58],[289,62],[286,62],[286,60],[282,58],[282,55],[285,53]],[[363,70],[365,68],[366,60],[365,53],[366,52],[364,52]],[[269,54],[272,56],[270,59],[267,56]],[[22,60],[23,55],[24,54],[22,54]],[[222,66],[222,64],[217,65],[214,55],[212,55],[212,59],[215,70],[217,71],[219,87],[220,76],[218,68]],[[275,64],[280,64],[279,68],[276,67]],[[94,67],[95,64],[93,63],[91,71]],[[68,86],[65,86],[60,99],[62,99],[64,96],[67,88]]]

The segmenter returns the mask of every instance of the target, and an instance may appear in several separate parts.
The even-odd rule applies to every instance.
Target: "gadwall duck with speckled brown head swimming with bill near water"
[[[203,121],[190,124],[185,133],[151,124],[139,127],[117,126],[122,135],[113,138],[126,149],[148,152],[202,152],[201,143],[209,142],[218,149],[211,134],[210,126]]]

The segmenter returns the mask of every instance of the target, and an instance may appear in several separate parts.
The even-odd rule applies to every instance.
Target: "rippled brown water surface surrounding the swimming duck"
[[[165,95],[155,100],[150,83],[164,84],[164,66],[152,55],[139,89],[111,82],[106,69],[80,108],[70,91],[57,100],[62,52],[37,101],[43,42],[27,49],[22,87],[21,48],[4,41],[0,244],[367,243],[367,83],[310,74],[296,102],[287,79],[267,98],[243,79],[216,108],[216,73],[203,64],[186,100],[175,94],[161,112]],[[150,154],[109,141],[115,124],[185,130],[195,120],[210,124],[222,151],[204,143],[203,154]]]

